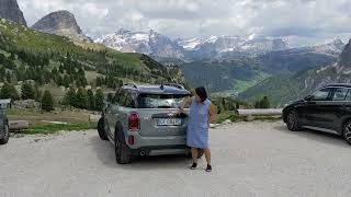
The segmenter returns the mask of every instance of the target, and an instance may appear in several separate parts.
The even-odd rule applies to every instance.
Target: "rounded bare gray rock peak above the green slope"
[[[91,39],[82,33],[75,15],[66,10],[49,13],[32,27],[41,32],[67,36],[80,42],[91,42]]]

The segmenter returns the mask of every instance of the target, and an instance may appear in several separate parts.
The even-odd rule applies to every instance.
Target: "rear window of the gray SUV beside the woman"
[[[178,108],[188,94],[140,94],[138,108]]]

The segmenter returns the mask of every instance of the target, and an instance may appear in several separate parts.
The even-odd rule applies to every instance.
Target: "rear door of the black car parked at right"
[[[347,88],[332,88],[329,101],[319,101],[316,104],[315,120],[320,128],[337,130],[339,119],[343,114]]]

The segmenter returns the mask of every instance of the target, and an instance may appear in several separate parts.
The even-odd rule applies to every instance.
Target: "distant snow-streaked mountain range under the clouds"
[[[141,53],[156,59],[180,59],[184,61],[234,57],[240,55],[261,55],[268,51],[291,48],[283,38],[250,38],[245,36],[210,36],[207,38],[171,39],[157,33],[118,30],[95,39],[107,47],[123,53]]]

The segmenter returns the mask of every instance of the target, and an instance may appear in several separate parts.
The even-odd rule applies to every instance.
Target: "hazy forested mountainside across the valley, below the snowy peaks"
[[[181,63],[180,67],[192,85],[205,85],[211,92],[226,92],[236,96],[272,76],[291,74],[332,63],[343,47],[341,40],[333,40],[325,45],[270,51],[258,56],[195,60]]]

